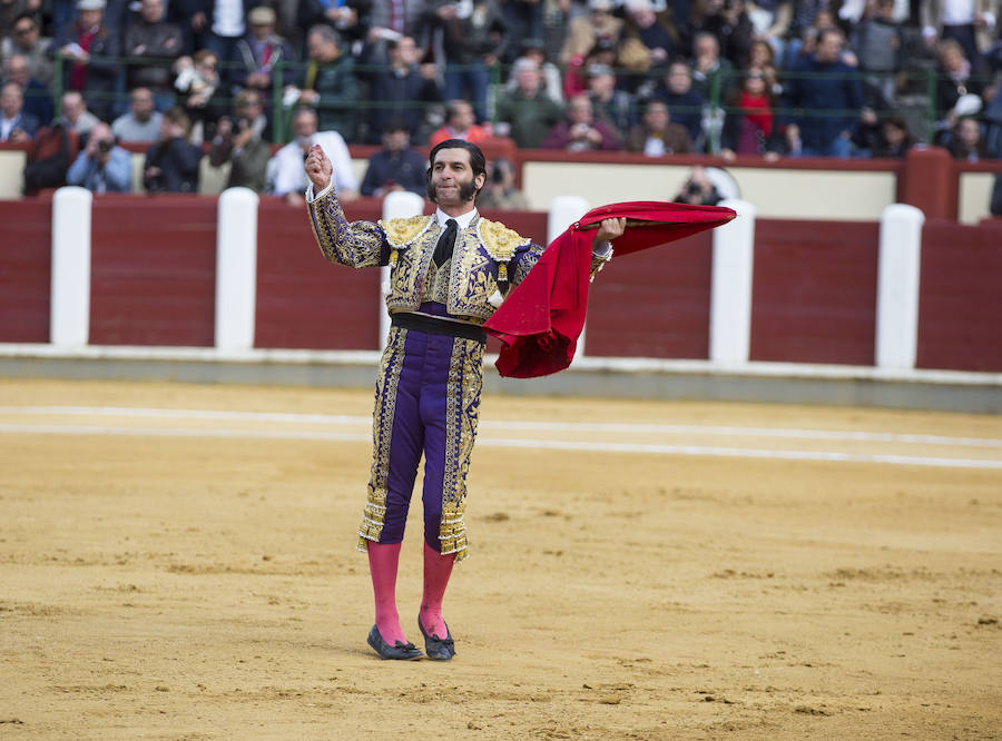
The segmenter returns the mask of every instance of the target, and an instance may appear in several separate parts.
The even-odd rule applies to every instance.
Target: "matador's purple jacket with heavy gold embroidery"
[[[477,215],[456,235],[452,258],[436,268],[432,257],[442,229],[434,216],[350,224],[333,190],[308,208],[316,244],[328,260],[354,268],[390,266],[391,314],[434,302],[453,317],[483,324],[543,251],[503,224]],[[592,275],[608,257],[592,258]]]

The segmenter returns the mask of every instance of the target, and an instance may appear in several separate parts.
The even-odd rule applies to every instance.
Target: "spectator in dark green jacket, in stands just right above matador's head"
[[[521,58],[514,63],[515,89],[498,101],[498,134],[511,137],[519,147],[539,147],[550,129],[563,118],[563,108],[543,87],[539,65]]]

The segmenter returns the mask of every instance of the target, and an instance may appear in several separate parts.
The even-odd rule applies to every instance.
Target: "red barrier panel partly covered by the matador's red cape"
[[[709,356],[713,236],[616,258],[591,284],[584,352],[606,357]]]

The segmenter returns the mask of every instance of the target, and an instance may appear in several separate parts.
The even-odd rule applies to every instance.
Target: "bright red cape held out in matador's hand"
[[[615,240],[621,257],[727,224],[736,214],[719,206],[654,200],[600,206],[588,211],[543,251],[483,328],[502,343],[495,364],[502,376],[532,378],[563,370],[584,326],[591,241],[602,219],[627,218]]]

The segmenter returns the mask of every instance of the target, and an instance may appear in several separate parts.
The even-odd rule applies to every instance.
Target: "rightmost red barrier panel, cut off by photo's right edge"
[[[921,368],[1002,372],[1002,220],[922,233]]]

